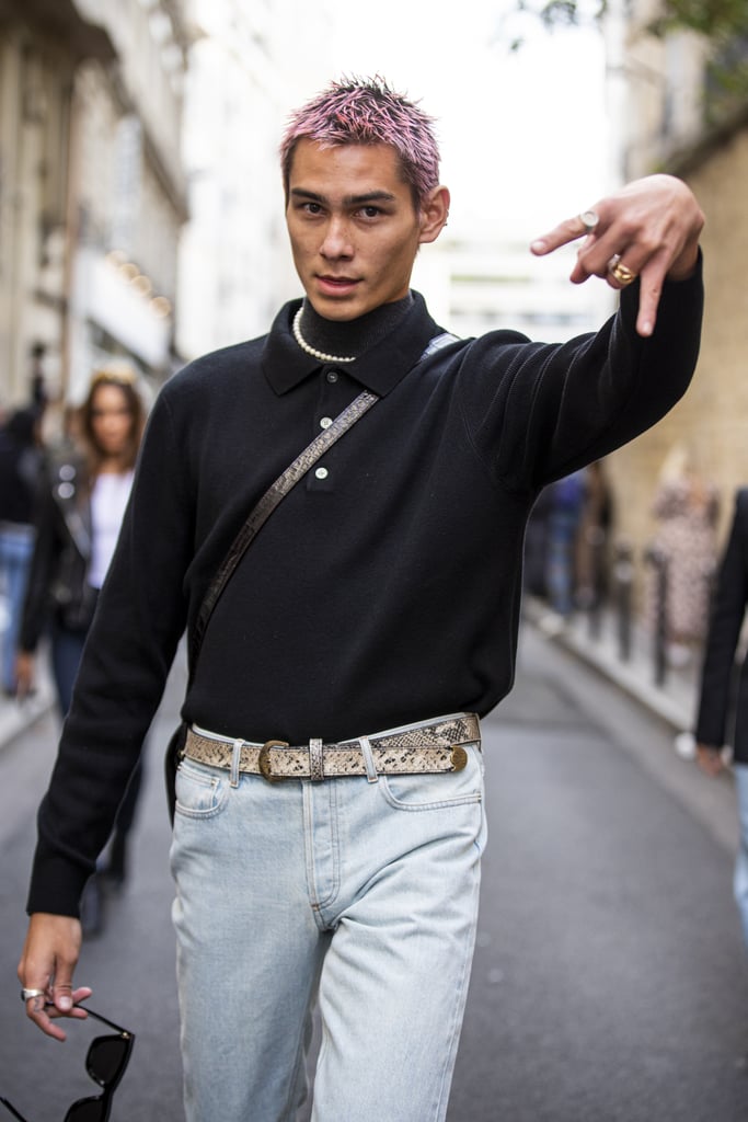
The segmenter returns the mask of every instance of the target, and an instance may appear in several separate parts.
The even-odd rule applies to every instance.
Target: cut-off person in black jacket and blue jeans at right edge
[[[748,487],[744,487],[736,495],[732,525],[713,599],[701,673],[695,739],[699,764],[708,775],[718,775],[724,770],[722,749],[728,743],[732,746],[740,821],[733,888],[748,949],[748,659],[745,651],[739,666],[736,666],[747,609]],[[730,728],[731,717],[733,725]]]

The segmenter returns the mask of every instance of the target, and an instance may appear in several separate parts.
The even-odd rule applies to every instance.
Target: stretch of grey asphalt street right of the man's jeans
[[[488,725],[491,831],[450,1122],[745,1122],[731,784],[525,640]]]

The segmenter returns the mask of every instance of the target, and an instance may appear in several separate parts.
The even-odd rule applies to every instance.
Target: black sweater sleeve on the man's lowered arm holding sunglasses
[[[160,701],[185,627],[192,505],[164,392],[89,632],[38,813],[28,911],[76,916]]]

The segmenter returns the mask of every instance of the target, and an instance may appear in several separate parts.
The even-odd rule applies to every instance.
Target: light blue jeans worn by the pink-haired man
[[[472,962],[483,763],[269,784],[184,761],[172,846],[187,1122],[437,1122]],[[231,779],[236,780],[233,787]]]

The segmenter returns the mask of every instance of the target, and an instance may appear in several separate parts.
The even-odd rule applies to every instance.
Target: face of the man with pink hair
[[[311,140],[294,151],[286,223],[312,306],[339,321],[405,296],[419,243],[443,224],[432,234],[428,208],[416,212],[389,145]]]

